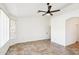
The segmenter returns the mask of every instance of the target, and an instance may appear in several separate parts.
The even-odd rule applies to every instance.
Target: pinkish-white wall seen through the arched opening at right
[[[79,17],[72,17],[66,21],[66,44],[79,40]]]

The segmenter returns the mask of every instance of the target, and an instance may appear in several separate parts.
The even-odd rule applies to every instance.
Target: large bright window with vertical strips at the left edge
[[[0,9],[0,47],[9,40],[9,17]]]

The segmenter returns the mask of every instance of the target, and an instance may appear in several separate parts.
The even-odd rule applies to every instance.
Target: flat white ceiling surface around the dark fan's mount
[[[54,3],[52,10],[63,9],[68,3]],[[46,3],[4,3],[8,12],[16,17],[36,16],[38,10],[47,10]]]

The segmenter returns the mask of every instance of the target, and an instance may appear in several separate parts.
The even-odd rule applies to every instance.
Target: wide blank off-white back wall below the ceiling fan
[[[49,39],[49,17],[26,17],[16,20],[15,42]]]

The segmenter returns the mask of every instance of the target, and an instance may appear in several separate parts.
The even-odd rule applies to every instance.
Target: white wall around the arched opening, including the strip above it
[[[72,17],[79,17],[79,10],[73,10],[69,13],[63,13],[62,15],[51,17],[51,41],[60,45],[66,46],[74,43],[67,43],[66,40],[66,20]]]

